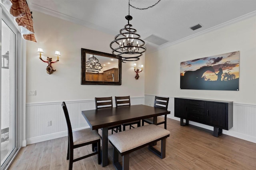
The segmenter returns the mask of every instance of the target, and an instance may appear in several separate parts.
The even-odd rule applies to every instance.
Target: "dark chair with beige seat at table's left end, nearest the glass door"
[[[77,131],[72,131],[69,115],[68,115],[68,109],[65,102],[62,102],[61,104],[67,126],[68,126],[68,153],[67,153],[67,160],[69,160],[69,170],[72,170],[73,162],[76,162],[78,160],[88,158],[90,156],[98,154],[98,164],[101,163],[100,160],[100,135],[96,130],[91,130],[90,128],[81,129]],[[79,158],[74,159],[74,149],[83,147],[90,144],[96,144],[98,150],[94,153],[87,154],[85,156],[81,156]]]

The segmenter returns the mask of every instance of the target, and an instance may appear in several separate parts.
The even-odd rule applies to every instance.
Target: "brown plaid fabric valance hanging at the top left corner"
[[[21,34],[24,39],[36,42],[34,35],[32,14],[26,0],[10,0],[12,7],[10,14],[15,17],[16,22],[21,27]]]

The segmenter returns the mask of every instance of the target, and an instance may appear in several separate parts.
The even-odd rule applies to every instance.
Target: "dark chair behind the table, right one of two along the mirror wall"
[[[115,96],[115,101],[116,101],[116,107],[121,107],[121,106],[131,106],[131,102],[130,102],[130,96]],[[125,127],[126,126],[130,126],[131,128],[135,128],[132,125],[137,124],[137,127],[140,127],[140,120],[137,121],[131,121],[128,123],[123,123],[123,131],[125,131]]]

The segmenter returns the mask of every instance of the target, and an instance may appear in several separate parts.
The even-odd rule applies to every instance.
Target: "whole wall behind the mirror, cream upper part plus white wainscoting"
[[[132,104],[144,104],[144,71],[136,80],[134,62],[122,64],[121,86],[80,84],[81,48],[111,53],[109,44],[114,35],[36,11],[33,11],[33,21],[37,43],[27,41],[26,44],[26,138],[22,139],[23,146],[26,142],[66,135],[62,101],[74,106],[68,108],[74,117],[71,120],[74,129],[87,126],[81,110],[94,109],[94,97],[129,95]],[[118,28],[116,31],[118,33]],[[54,52],[60,51],[60,61],[52,64],[56,72],[51,75],[46,73],[47,64],[38,59],[39,47],[44,50],[42,58],[52,57],[53,61],[56,60]],[[144,56],[136,63],[144,64]],[[29,90],[36,90],[36,96],[28,96]],[[47,121],[52,121],[52,126],[47,127]]]

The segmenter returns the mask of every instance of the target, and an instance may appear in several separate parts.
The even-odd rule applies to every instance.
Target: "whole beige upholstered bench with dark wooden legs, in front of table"
[[[113,145],[113,165],[118,170],[129,170],[129,153],[148,145],[148,149],[160,158],[165,158],[166,138],[170,132],[157,125],[150,124],[122,131],[108,136]],[[161,152],[153,147],[153,143],[161,141]],[[118,162],[118,154],[122,156],[122,164]]]

